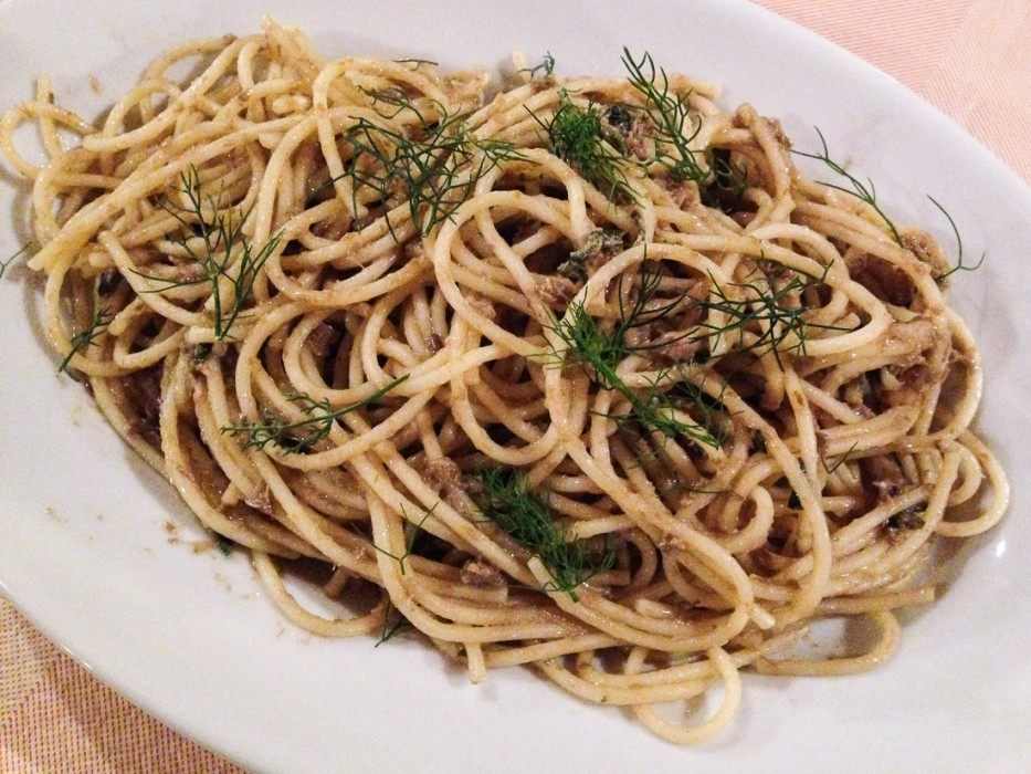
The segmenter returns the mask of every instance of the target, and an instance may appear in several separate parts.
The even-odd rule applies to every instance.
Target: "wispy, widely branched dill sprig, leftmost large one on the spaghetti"
[[[177,203],[161,202],[161,208],[172,216],[185,232],[172,241],[189,254],[200,269],[200,275],[189,280],[170,280],[136,271],[136,274],[148,280],[165,283],[162,287],[145,293],[159,293],[173,287],[211,284],[211,301],[214,312],[214,337],[222,341],[229,337],[233,324],[242,314],[254,281],[264,266],[265,261],[278,247],[282,231],[276,232],[255,250],[254,245],[243,233],[244,223],[253,210],[253,205],[246,212],[234,217],[233,212],[219,212],[218,201],[213,196],[201,192],[200,172],[197,167],[182,172],[179,178],[181,192],[189,205],[181,207]],[[206,212],[206,206],[208,212]],[[203,242],[202,250],[196,250],[191,238],[200,237]],[[222,293],[222,279],[230,282],[232,293],[224,297]]]

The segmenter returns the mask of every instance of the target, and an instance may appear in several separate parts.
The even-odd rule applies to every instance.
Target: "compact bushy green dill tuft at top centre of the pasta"
[[[608,128],[596,103],[588,102],[581,107],[562,90],[558,108],[549,119],[540,118],[528,107],[526,109],[547,133],[551,153],[609,199],[637,199],[627,179],[627,160],[618,150],[622,139]]]

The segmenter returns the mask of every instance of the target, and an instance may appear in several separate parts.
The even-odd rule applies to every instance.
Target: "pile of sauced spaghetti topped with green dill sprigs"
[[[294,624],[403,626],[474,681],[529,665],[703,741],[743,669],[882,662],[938,538],[1002,516],[979,354],[948,257],[825,144],[807,179],[777,121],[646,54],[519,64],[326,61],[267,22],[165,54],[96,126],[41,81],[0,149],[45,327]],[[301,565],[358,611],[302,607]],[[867,652],[790,653],[842,616]],[[705,719],[656,709],[720,684]]]

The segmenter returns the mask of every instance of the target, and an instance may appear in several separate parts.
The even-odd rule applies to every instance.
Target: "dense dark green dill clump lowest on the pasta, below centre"
[[[582,542],[568,540],[520,471],[485,468],[476,475],[482,489],[477,505],[516,543],[540,557],[554,579],[545,590],[565,592],[576,602],[578,586],[616,565],[613,551],[607,548],[599,556]]]

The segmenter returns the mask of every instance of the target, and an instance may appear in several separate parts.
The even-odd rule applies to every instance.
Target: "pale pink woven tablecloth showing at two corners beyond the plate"
[[[1031,182],[1028,0],[759,2],[893,75]],[[97,682],[0,598],[0,772],[179,771],[241,772]]]

